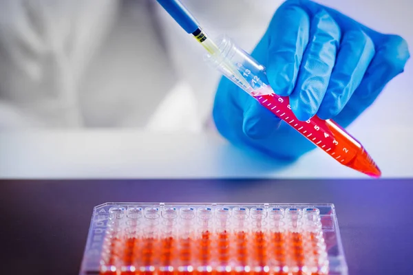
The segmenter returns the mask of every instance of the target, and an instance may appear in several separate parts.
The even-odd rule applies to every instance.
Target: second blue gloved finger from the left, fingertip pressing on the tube
[[[325,10],[315,14],[311,22],[311,41],[290,95],[291,109],[298,120],[308,120],[317,113],[335,65],[340,36],[339,26]]]

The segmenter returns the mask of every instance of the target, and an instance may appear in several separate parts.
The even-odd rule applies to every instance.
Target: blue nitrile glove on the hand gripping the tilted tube
[[[317,114],[343,127],[403,72],[407,43],[381,34],[323,5],[289,0],[275,12],[252,56],[267,69],[276,94],[290,96],[299,120]],[[213,118],[233,144],[294,161],[315,148],[230,80],[222,78]]]

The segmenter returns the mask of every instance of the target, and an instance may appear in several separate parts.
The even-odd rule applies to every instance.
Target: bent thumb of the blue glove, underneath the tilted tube
[[[248,102],[244,109],[244,121],[242,131],[252,139],[268,137],[273,131],[278,129],[282,120],[264,108],[257,100]]]

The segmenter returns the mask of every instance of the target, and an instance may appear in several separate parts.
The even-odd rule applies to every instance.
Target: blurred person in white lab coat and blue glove
[[[312,1],[182,2],[209,34],[252,52],[300,120],[348,126],[410,57],[400,36]],[[233,144],[283,159],[314,148],[200,64],[203,49],[155,0],[2,0],[0,13],[2,129],[199,132],[212,114]]]

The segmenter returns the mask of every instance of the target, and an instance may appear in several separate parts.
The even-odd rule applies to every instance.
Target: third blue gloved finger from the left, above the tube
[[[374,53],[373,41],[364,32],[354,30],[343,35],[330,83],[317,112],[319,118],[333,118],[346,106]]]

